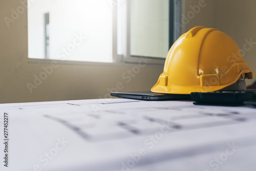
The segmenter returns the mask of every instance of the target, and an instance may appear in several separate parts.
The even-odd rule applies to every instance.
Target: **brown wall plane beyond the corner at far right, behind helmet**
[[[245,39],[256,44],[256,1],[252,0],[216,0],[215,26],[230,35],[244,49]],[[245,49],[249,48],[248,45]],[[244,49],[244,50],[245,50]],[[244,60],[256,72],[256,45],[247,51]],[[255,81],[255,77],[247,84]]]

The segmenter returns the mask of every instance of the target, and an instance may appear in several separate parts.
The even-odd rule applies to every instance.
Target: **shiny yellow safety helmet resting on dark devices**
[[[253,78],[236,42],[227,34],[203,26],[181,35],[170,48],[154,93],[190,94],[218,91],[239,78]]]

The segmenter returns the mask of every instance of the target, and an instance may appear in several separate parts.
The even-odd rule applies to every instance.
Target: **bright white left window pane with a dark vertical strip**
[[[30,58],[111,62],[111,4],[109,0],[37,0],[28,8],[28,36]]]

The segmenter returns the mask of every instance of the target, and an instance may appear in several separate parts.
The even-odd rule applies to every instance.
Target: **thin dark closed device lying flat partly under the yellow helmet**
[[[136,100],[189,100],[190,94],[160,94],[147,92],[112,92],[114,97],[122,97]]]

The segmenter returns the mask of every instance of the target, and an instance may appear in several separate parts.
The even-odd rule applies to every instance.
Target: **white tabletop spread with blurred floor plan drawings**
[[[0,170],[255,170],[256,108],[94,99],[0,104]]]

